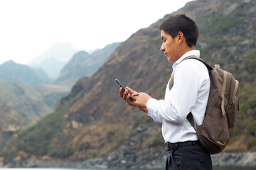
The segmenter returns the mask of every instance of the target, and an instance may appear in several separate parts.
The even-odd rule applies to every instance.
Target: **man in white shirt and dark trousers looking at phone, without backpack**
[[[210,79],[208,69],[198,60],[185,60],[191,55],[200,57],[196,50],[198,27],[185,15],[171,16],[159,27],[161,51],[173,64],[174,85],[166,86],[164,100],[156,100],[148,94],[120,88],[119,93],[127,103],[144,111],[162,123],[162,135],[166,142],[166,169],[212,169],[210,154],[201,147],[198,137],[186,119],[192,113],[197,125],[203,123]],[[128,93],[129,92],[129,93]],[[130,96],[134,100],[130,99]]]

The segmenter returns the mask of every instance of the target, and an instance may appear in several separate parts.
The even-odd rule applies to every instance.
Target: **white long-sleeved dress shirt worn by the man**
[[[210,78],[208,69],[202,62],[193,59],[184,60],[191,55],[200,57],[200,51],[186,52],[173,64],[174,86],[169,90],[168,82],[164,100],[151,98],[146,103],[147,115],[162,123],[161,130],[165,142],[198,140],[196,131],[186,117],[191,112],[197,125],[203,123],[210,91]]]

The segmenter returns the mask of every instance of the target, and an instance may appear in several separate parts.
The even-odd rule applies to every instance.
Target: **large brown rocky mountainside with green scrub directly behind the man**
[[[82,168],[156,167],[164,156],[161,124],[127,106],[119,97],[114,79],[154,98],[164,97],[171,64],[159,50],[159,25],[177,13],[185,13],[198,23],[196,47],[203,60],[220,64],[241,82],[240,112],[225,152],[255,151],[255,6],[256,1],[250,0],[191,1],[149,28],[138,30],[92,77],[79,79],[70,94],[61,99],[55,113],[9,142],[1,153],[4,162],[28,166],[26,162],[31,159],[62,159],[65,163],[70,161],[63,166],[81,162]]]

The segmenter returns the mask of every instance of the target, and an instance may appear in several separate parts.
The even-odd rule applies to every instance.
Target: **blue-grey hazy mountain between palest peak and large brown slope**
[[[114,42],[101,50],[88,54],[85,51],[77,52],[72,59],[65,64],[60,72],[60,77],[53,84],[60,86],[73,86],[75,81],[82,77],[90,77],[97,72],[108,57],[116,50],[122,42]]]

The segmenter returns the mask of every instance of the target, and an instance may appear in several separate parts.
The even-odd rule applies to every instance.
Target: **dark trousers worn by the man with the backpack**
[[[210,154],[200,144],[167,151],[166,170],[212,170]]]

